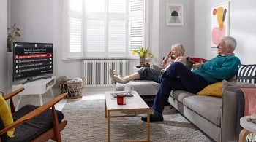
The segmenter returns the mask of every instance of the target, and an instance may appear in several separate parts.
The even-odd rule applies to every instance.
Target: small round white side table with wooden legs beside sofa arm
[[[244,142],[246,141],[246,136],[249,133],[256,133],[256,124],[252,122],[247,122],[247,119],[252,116],[245,116],[241,117],[240,119],[240,125],[241,127],[244,127],[243,130],[241,130],[239,134],[239,142]]]

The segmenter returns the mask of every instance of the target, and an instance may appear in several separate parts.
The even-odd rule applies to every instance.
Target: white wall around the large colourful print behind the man
[[[226,2],[195,0],[195,56],[200,58],[214,58],[217,49],[210,47],[211,7]],[[230,36],[236,38],[238,46],[235,54],[241,63],[255,64],[256,52],[256,1],[230,1]]]

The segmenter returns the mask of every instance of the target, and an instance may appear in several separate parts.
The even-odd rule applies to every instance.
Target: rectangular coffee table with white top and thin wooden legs
[[[110,141],[110,118],[111,117],[135,117],[136,111],[146,111],[148,114],[147,132],[148,139],[144,141],[150,141],[150,109],[144,100],[138,95],[136,91],[132,91],[134,98],[127,98],[126,105],[118,105],[116,99],[110,98],[110,93],[124,92],[124,91],[108,91],[105,92],[105,117],[108,119],[108,141]],[[133,111],[133,114],[128,115],[110,115],[111,111]]]

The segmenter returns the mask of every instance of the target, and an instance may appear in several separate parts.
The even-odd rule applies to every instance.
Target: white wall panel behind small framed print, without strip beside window
[[[184,26],[168,26],[165,25],[165,4],[184,4]],[[192,56],[193,49],[193,27],[194,27],[194,15],[193,6],[194,1],[186,0],[160,0],[159,1],[159,63],[162,61],[162,57],[170,51],[172,44],[184,44],[186,49],[185,56]],[[154,27],[152,27],[154,28]]]

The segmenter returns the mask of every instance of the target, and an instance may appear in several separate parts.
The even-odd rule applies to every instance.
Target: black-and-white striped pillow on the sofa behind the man
[[[238,82],[247,82],[256,84],[256,64],[255,65],[238,65]]]

